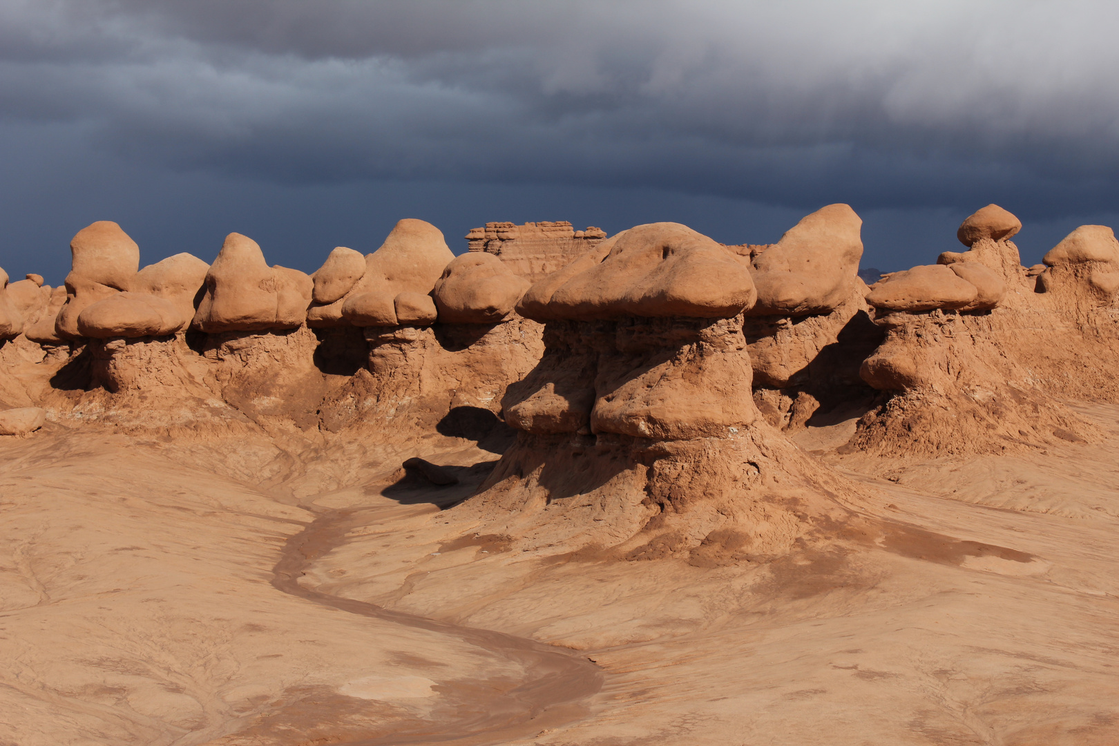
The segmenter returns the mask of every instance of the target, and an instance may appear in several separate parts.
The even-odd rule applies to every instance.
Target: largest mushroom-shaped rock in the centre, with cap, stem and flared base
[[[724,533],[759,555],[787,550],[806,528],[764,497],[778,483],[801,516],[838,520],[819,485],[843,492],[841,480],[760,421],[751,398],[747,261],[653,224],[529,289],[518,310],[546,322],[545,352],[509,386],[517,443],[468,506],[515,511],[502,520],[526,546],[598,542],[634,559],[687,557]]]

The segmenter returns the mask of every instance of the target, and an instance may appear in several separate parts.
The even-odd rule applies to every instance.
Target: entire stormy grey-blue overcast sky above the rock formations
[[[769,243],[848,202],[864,266],[988,202],[1037,262],[1117,225],[1119,3],[0,0],[0,266],[97,219],[313,271],[393,224],[677,220]]]

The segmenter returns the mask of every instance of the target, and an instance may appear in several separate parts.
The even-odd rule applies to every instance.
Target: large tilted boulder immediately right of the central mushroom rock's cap
[[[802,218],[753,259],[758,302],[750,315],[831,313],[850,294],[863,220],[847,205],[828,205]]]

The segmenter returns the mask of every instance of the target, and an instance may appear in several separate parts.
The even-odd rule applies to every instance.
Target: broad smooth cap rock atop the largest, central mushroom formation
[[[753,304],[749,262],[678,223],[637,226],[614,236],[599,263],[581,257],[551,296],[526,294],[519,311],[536,320],[737,315]],[[601,246],[599,251],[601,251]],[[595,252],[595,254],[599,253]],[[590,266],[587,266],[590,265]],[[562,270],[572,275],[568,268]],[[553,285],[552,278],[545,281]],[[528,298],[532,295],[532,298]]]

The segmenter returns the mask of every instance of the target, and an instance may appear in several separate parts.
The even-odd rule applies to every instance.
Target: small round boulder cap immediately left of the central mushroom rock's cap
[[[497,323],[513,313],[528,285],[492,254],[471,252],[457,256],[435,281],[433,296],[439,320]]]

